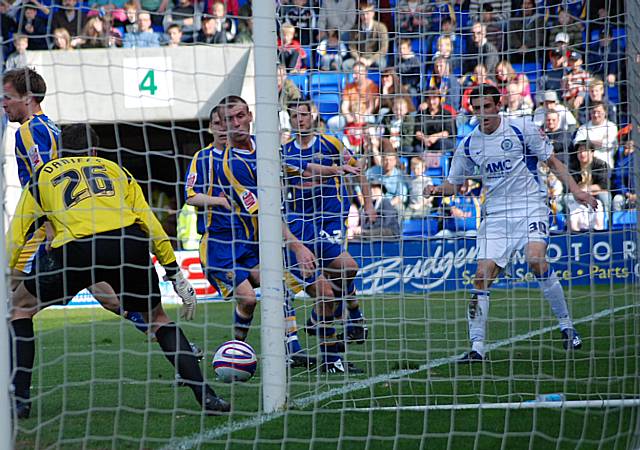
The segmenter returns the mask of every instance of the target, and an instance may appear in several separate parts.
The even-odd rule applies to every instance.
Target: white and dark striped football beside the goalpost
[[[246,342],[227,341],[218,347],[211,364],[220,381],[244,382],[256,373],[258,357],[253,347]]]

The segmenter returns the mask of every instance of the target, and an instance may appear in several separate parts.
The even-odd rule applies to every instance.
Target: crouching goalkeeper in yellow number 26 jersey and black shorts
[[[86,150],[83,151],[86,154]],[[42,165],[23,190],[7,239],[13,268],[25,237],[40,222],[53,228],[51,251],[39,269],[12,295],[13,385],[16,414],[28,417],[29,388],[35,354],[33,334],[23,334],[21,320],[34,309],[66,304],[80,290],[107,282],[127,311],[142,313],[169,361],[210,414],[229,411],[203,380],[198,361],[182,330],[165,314],[159,280],[149,253],[164,266],[183,301],[182,317],[193,320],[196,296],[183,277],[167,234],[144,199],[136,180],[117,164],[93,156],[65,156]]]

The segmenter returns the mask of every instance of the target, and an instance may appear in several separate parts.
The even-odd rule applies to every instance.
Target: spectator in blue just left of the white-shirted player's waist
[[[442,200],[444,211],[443,229],[454,233],[466,233],[480,226],[481,201],[477,191],[480,183],[467,179],[460,191]]]

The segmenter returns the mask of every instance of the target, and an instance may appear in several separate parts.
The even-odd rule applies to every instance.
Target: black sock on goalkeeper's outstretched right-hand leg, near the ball
[[[204,382],[198,360],[182,330],[175,323],[167,323],[156,330],[158,344],[166,358],[177,369],[178,374],[193,391],[200,403],[205,393],[216,395]]]

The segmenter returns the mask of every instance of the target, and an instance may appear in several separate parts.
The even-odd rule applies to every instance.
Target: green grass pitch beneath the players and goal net
[[[462,293],[363,300],[370,338],[349,347],[360,376],[296,369],[290,408],[260,414],[260,368],[248,383],[211,380],[230,399],[230,417],[205,417],[190,390],[176,387],[156,343],[100,309],[44,311],[36,319],[32,416],[18,424],[17,448],[229,449],[627,449],[637,445],[639,408],[344,411],[344,408],[532,400],[639,398],[640,302],[633,285],[567,290],[584,338],[562,348],[548,305],[535,288],[492,293],[490,362],[460,366],[466,351]],[[202,363],[231,336],[231,303],[199,306],[184,326],[204,346]],[[310,303],[298,310],[304,323]],[[616,309],[617,308],[617,309]],[[603,312],[604,311],[604,312]],[[176,314],[176,309],[170,309]],[[602,312],[602,314],[597,314]],[[597,315],[596,315],[597,314]],[[259,316],[259,313],[257,314]],[[204,324],[208,325],[205,327]],[[259,320],[248,342],[260,352]],[[300,333],[303,345],[315,342]],[[635,444],[634,444],[635,443]]]

